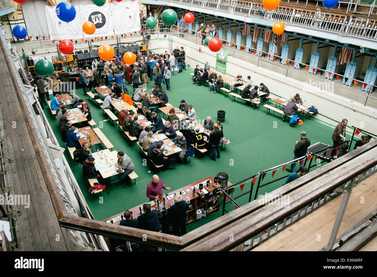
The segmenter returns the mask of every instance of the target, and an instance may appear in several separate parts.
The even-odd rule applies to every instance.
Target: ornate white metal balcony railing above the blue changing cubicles
[[[334,32],[341,35],[376,40],[377,24],[375,20],[362,17],[352,17],[344,14],[310,9],[296,9],[280,5],[273,11],[268,11],[261,3],[237,0],[171,0],[170,5],[182,4],[191,7],[205,8],[246,17],[260,18],[269,21],[281,21],[287,26],[302,26],[305,28]]]

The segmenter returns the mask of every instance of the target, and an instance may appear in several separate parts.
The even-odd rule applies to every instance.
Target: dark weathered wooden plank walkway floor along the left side
[[[4,160],[9,164],[14,194],[30,195],[29,208],[18,205],[21,241],[18,249],[23,251],[70,251],[80,250],[60,228],[51,199],[38,164],[28,129],[9,72],[5,55],[0,50],[0,110],[6,125]],[[8,184],[9,185],[9,184]]]

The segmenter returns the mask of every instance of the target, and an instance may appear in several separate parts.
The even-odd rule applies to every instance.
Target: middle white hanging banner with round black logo
[[[113,18],[110,13],[110,4],[101,7],[96,5],[80,5],[81,28],[86,21],[92,21],[95,25],[95,32],[87,35],[83,32],[84,38],[101,37],[103,35],[113,35]]]

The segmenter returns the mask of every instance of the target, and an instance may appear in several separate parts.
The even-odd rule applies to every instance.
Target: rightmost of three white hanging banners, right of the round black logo
[[[111,13],[114,17],[115,34],[124,34],[140,31],[140,15],[138,1],[120,2],[111,5]]]

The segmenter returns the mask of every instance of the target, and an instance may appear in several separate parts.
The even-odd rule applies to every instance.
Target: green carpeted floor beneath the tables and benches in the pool
[[[224,136],[229,138],[230,144],[227,145],[226,150],[221,152],[221,158],[212,161],[208,156],[201,159],[193,157],[189,164],[181,165],[158,173],[167,187],[172,190],[184,187],[202,178],[212,176],[215,177],[219,172],[226,172],[229,174],[230,182],[238,182],[248,176],[251,176],[259,171],[271,168],[275,165],[293,159],[293,149],[296,140],[300,140],[300,131],[305,130],[307,137],[311,144],[316,142],[323,142],[332,144],[331,135],[334,127],[329,126],[323,122],[313,118],[310,121],[305,120],[302,126],[295,125],[291,127],[288,122],[282,122],[282,116],[271,112],[266,115],[266,109],[261,104],[261,109],[253,110],[250,106],[246,106],[245,102],[238,99],[236,102],[231,101],[231,97],[224,98],[224,94],[213,94],[208,91],[208,87],[202,85],[192,85],[192,69],[187,69],[182,73],[173,75],[170,79],[171,90],[168,94],[169,103],[175,107],[179,106],[181,99],[184,99],[188,104],[191,104],[199,116],[199,120],[204,120],[207,116],[211,116],[213,121],[217,120],[217,111],[224,110],[225,122]],[[153,81],[154,83],[154,81]],[[148,83],[148,89],[152,88],[152,82]],[[132,86],[127,86],[132,95]],[[163,89],[166,87],[163,86]],[[76,93],[85,101],[87,97],[83,95],[83,90],[78,89]],[[278,94],[272,92],[274,94]],[[100,122],[106,119],[101,108],[97,107],[95,101],[89,101],[92,112],[92,117],[95,122]],[[52,130],[55,133],[60,146],[66,148],[66,144],[61,142],[61,129],[58,127],[56,121],[52,119],[51,112],[44,109],[47,118],[49,119]],[[156,110],[161,113],[158,109]],[[115,112],[118,116],[118,112]],[[103,203],[99,199],[88,192],[89,184],[86,179],[82,177],[80,165],[73,165],[68,150],[64,152],[67,161],[71,165],[71,169],[75,178],[80,185],[81,191],[90,207],[95,219],[103,220],[107,217],[113,216],[126,209],[140,205],[148,200],[146,197],[146,187],[151,181],[153,171],[149,165],[143,166],[143,158],[139,153],[137,145],[130,147],[123,136],[119,133],[118,126],[112,126],[109,121],[103,122],[102,132],[107,136],[110,142],[114,145],[113,150],[123,151],[126,153],[135,164],[135,172],[139,178],[136,179],[136,185],[131,187],[126,185],[126,189],[119,184],[113,184],[110,195],[107,191],[103,193]],[[348,135],[348,138],[351,136]],[[104,147],[101,144],[100,147]],[[296,170],[298,169],[296,165]],[[278,170],[274,175],[274,179],[287,175],[282,170]],[[271,176],[265,176],[264,182],[272,180]],[[273,184],[263,187],[259,194],[270,192],[280,187],[285,180],[275,182]],[[250,189],[251,182],[245,185],[244,189]],[[240,188],[236,188],[234,196],[240,194]],[[248,201],[248,196],[241,197],[239,204],[244,205]],[[227,205],[228,210],[233,210],[234,206]],[[213,213],[205,219],[199,220],[188,227],[188,231],[197,228],[199,225],[207,223],[220,216],[221,213]],[[199,224],[199,225],[198,225]]]

